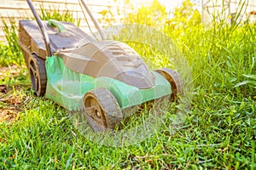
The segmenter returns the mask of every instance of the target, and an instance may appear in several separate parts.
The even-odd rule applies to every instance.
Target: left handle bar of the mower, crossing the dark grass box
[[[26,0],[26,3],[28,3],[29,7],[31,8],[32,10],[32,14],[34,15],[35,19],[37,20],[38,22],[38,27],[40,28],[40,31],[43,35],[43,39],[44,39],[44,45],[45,45],[45,48],[46,48],[46,54],[47,56],[51,56],[51,49],[50,49],[50,44],[49,44],[49,36],[47,34],[47,31],[44,27],[44,24],[42,23],[42,20],[40,20],[38,14],[37,14],[37,11],[36,9],[34,8],[31,0]]]

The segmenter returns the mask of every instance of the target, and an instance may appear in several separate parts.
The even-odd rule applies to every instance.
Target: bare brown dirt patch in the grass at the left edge
[[[20,76],[20,68],[17,65],[0,68],[0,82],[5,80],[16,78]],[[0,123],[6,122],[11,124],[19,120],[21,103],[25,96],[19,94],[19,85],[9,86],[8,84],[0,84]],[[15,93],[14,93],[15,92]]]

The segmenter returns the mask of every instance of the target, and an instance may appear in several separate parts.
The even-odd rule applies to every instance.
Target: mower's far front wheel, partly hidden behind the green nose
[[[162,68],[156,70],[156,72],[160,73],[160,75],[165,77],[166,80],[170,82],[172,87],[172,100],[177,98],[177,94],[183,95],[183,82],[177,71],[171,70],[169,68]]]

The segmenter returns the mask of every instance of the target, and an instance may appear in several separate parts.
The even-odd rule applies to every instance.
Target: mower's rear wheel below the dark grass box
[[[45,60],[39,58],[36,54],[32,54],[28,62],[28,71],[35,94],[44,96],[47,83]]]

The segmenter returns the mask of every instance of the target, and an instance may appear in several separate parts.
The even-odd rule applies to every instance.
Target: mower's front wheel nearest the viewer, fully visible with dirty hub
[[[84,112],[90,127],[96,132],[119,127],[123,119],[117,100],[105,88],[84,94]]]

